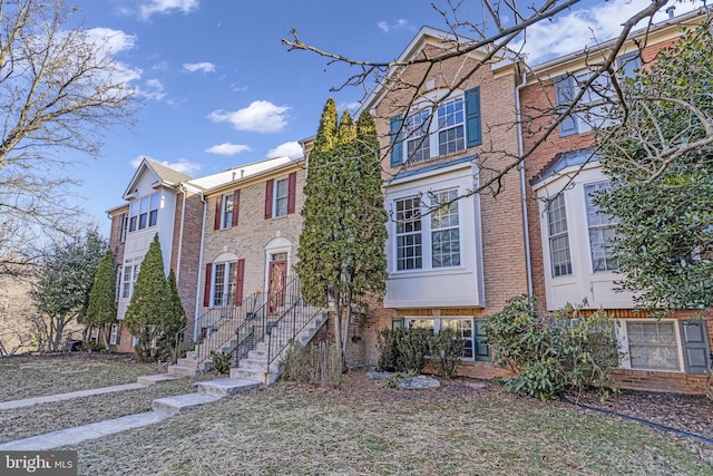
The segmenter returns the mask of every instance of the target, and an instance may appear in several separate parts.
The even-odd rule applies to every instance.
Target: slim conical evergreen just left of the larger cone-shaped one
[[[116,319],[116,276],[114,274],[114,264],[111,251],[107,250],[99,263],[97,274],[94,276],[94,285],[89,293],[89,305],[82,322],[87,327],[102,329],[104,347],[109,348],[107,342],[107,324]]]

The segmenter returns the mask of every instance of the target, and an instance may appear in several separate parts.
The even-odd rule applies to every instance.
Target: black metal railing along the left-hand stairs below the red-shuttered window
[[[254,293],[245,298],[240,305],[228,300],[226,305],[208,309],[196,322],[176,333],[174,363],[191,350],[195,352],[197,365],[207,360],[212,350],[221,351],[227,348],[228,353],[232,353],[236,342],[231,341],[235,340],[236,329],[245,321],[247,314],[261,307],[261,294]],[[194,333],[195,339],[191,339],[188,336]]]

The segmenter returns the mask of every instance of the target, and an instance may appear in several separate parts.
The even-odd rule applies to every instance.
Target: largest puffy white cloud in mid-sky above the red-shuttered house
[[[246,108],[235,111],[214,110],[208,115],[208,119],[215,123],[231,123],[237,130],[279,133],[287,125],[289,110],[287,106],[255,100]]]

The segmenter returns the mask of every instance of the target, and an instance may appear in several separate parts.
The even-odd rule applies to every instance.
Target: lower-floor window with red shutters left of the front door
[[[240,305],[243,301],[245,260],[208,263],[205,273],[204,307]]]

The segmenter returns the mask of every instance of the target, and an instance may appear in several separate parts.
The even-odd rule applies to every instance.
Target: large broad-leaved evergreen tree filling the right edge
[[[618,288],[638,308],[713,305],[713,41],[701,27],[625,84],[621,125],[602,147],[612,185],[595,203],[618,218]]]

